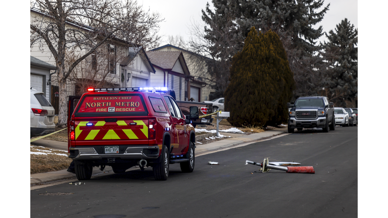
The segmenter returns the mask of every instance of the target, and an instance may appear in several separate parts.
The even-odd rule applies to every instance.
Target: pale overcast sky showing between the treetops
[[[144,10],[159,12],[165,22],[161,23],[159,35],[163,36],[161,45],[167,44],[169,35],[180,35],[185,40],[189,39],[189,26],[193,21],[201,22],[201,10],[205,9],[211,0],[138,0]],[[341,20],[348,18],[351,24],[357,26],[357,0],[325,0],[324,5],[330,3],[330,7],[323,20],[318,24],[323,26],[323,31],[328,32],[335,28]],[[321,39],[322,40],[322,39]]]

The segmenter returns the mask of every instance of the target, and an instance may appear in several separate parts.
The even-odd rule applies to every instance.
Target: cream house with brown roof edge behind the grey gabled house
[[[209,95],[214,90],[209,85],[211,81],[211,76],[207,72],[207,66],[204,61],[209,58],[198,55],[186,49],[176,47],[171,44],[166,44],[161,47],[154,48],[151,51],[169,51],[169,52],[181,51],[183,54],[184,60],[186,61],[186,66],[188,68],[188,71],[190,72],[190,76],[192,78],[191,81],[195,81],[195,85],[191,84],[192,86],[191,89],[193,90],[190,92],[190,94],[197,93],[198,91],[199,96],[193,97],[194,99],[196,99],[196,101],[211,100],[209,99]],[[201,86],[198,86],[198,84],[201,84]],[[197,99],[200,99],[200,100],[197,100]]]

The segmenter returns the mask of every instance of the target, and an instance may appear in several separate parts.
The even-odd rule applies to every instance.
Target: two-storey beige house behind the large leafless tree
[[[49,16],[46,16],[44,13],[37,9],[30,9],[31,24],[47,25],[47,23],[49,23],[48,21],[50,21]],[[68,29],[74,29],[75,32],[90,32],[92,30],[91,27],[77,24],[71,21],[66,21],[66,26]],[[96,42],[98,42],[99,39],[99,37],[94,38]],[[128,69],[125,67],[127,67],[129,63],[127,65],[125,63],[124,65],[121,65],[121,63],[129,56],[129,53],[131,50],[133,50],[133,47],[140,46],[116,37],[112,37],[107,40],[91,55],[81,61],[75,69],[73,69],[71,75],[66,81],[66,95],[81,95],[85,92],[86,88],[90,86],[125,87],[125,80],[127,79],[126,76],[128,74],[124,75],[124,72],[125,70],[128,71]],[[79,49],[76,46],[74,49],[69,48],[68,53],[65,54],[65,61],[72,63],[72,61],[88,52],[89,49],[90,48],[88,47]],[[55,58],[45,43],[33,43],[30,47],[30,56],[56,66]],[[147,69],[147,71],[144,70],[143,73],[136,78],[144,78],[143,76],[147,74],[144,72],[148,72],[148,74],[150,74],[150,72],[152,72],[152,68],[148,68],[149,69]],[[57,75],[53,74],[54,72],[55,68],[51,70],[51,85],[54,89],[58,90],[58,79]]]

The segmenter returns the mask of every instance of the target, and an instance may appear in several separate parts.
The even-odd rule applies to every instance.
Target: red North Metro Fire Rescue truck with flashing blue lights
[[[198,107],[184,116],[167,88],[89,88],[69,96],[68,148],[78,180],[89,180],[93,167],[124,173],[152,167],[156,180],[167,180],[169,165],[183,172],[195,166]]]

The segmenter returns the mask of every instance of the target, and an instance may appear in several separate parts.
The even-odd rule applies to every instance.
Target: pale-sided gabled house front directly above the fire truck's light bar
[[[128,56],[120,63],[124,75],[123,87],[149,87],[155,68],[142,47],[129,48]]]

